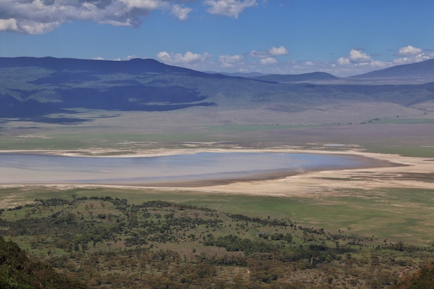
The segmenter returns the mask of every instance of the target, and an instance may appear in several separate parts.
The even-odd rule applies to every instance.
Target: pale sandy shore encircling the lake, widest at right
[[[110,154],[110,151],[53,151],[53,150],[3,150],[0,152],[28,152],[51,155],[69,155],[69,156],[104,156]],[[249,195],[273,195],[273,196],[316,196],[316,195],[342,195],[345,189],[383,189],[383,188],[420,188],[434,189],[433,177],[424,179],[423,175],[434,173],[434,159],[419,157],[401,157],[399,155],[385,155],[361,150],[297,150],[287,148],[273,148],[266,150],[245,150],[245,149],[181,149],[181,150],[146,150],[134,153],[125,153],[123,155],[111,155],[111,157],[150,157],[162,155],[182,155],[193,154],[198,152],[302,152],[302,153],[321,153],[321,154],[345,154],[368,157],[379,161],[389,161],[401,166],[378,166],[346,169],[346,170],[318,170],[307,173],[297,173],[289,176],[269,175],[252,180],[241,180],[239,182],[201,182],[201,183],[184,183],[180,187],[158,186],[154,189],[164,191],[198,191],[203,193],[236,193]],[[224,180],[222,180],[224,181]],[[28,185],[0,185],[0,187],[28,186]],[[87,184],[46,184],[46,186],[59,186],[66,188],[76,187],[123,187],[130,189],[143,189],[144,186],[133,186],[116,184],[116,185],[87,185]],[[149,186],[147,186],[149,188]]]

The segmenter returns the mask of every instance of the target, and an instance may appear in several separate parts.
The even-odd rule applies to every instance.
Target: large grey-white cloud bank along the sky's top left
[[[191,8],[179,0],[1,0],[0,30],[28,34],[49,33],[73,20],[114,26],[140,26],[153,10],[170,11],[187,19]]]

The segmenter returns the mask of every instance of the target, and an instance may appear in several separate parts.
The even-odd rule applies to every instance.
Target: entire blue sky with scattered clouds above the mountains
[[[434,58],[433,0],[0,0],[0,57],[351,76]]]

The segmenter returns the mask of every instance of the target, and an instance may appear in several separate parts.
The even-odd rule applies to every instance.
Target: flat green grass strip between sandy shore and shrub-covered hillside
[[[376,191],[343,190],[337,196],[264,197],[223,195],[189,191],[153,191],[138,189],[0,189],[5,207],[25,204],[35,198],[65,198],[73,195],[125,198],[139,204],[164,200],[193,204],[231,213],[266,218],[288,218],[303,226],[343,230],[360,236],[394,238],[406,243],[427,245],[434,240],[434,190],[383,189]],[[350,228],[350,229],[348,229]]]

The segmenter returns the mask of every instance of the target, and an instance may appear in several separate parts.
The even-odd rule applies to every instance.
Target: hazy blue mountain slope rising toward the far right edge
[[[371,71],[358,76],[351,76],[349,78],[419,78],[426,82],[433,82],[434,58],[412,64],[402,64],[394,67],[388,67],[386,69]]]

